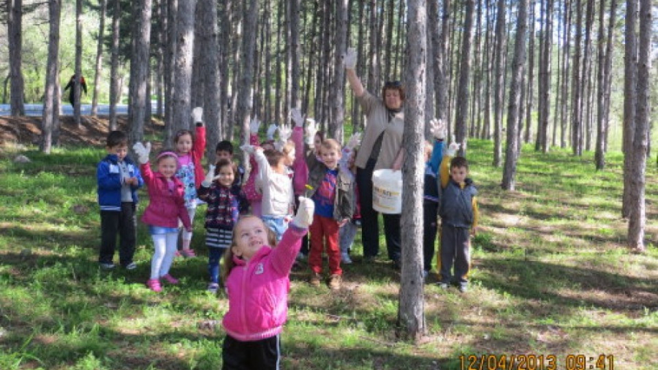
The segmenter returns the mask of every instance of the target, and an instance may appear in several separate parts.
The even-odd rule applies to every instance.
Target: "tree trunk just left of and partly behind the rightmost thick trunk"
[[[631,214],[631,166],[633,165],[633,140],[635,135],[635,95],[637,94],[637,0],[626,0],[626,26],[624,31],[624,128],[622,151],[624,152],[624,195],[622,217]]]

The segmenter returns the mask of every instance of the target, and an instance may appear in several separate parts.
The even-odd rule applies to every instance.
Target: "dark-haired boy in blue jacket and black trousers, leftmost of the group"
[[[101,268],[114,269],[114,249],[119,244],[119,262],[127,270],[137,266],[135,254],[137,189],[144,184],[139,168],[127,157],[128,138],[121,131],[112,131],[106,142],[108,155],[96,169],[98,204],[101,208],[101,247],[98,263]]]

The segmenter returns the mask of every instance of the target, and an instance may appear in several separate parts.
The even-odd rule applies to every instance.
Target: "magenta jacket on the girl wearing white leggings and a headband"
[[[149,190],[149,206],[142,216],[143,223],[160,227],[178,227],[178,219],[185,228],[191,227],[190,216],[183,199],[184,187],[176,177],[171,177],[174,188],[169,190],[167,179],[161,173],[151,171],[148,163],[141,164],[142,177]]]

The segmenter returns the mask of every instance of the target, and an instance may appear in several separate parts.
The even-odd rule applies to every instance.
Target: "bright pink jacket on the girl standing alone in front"
[[[228,312],[222,325],[238,341],[260,341],[279,334],[288,316],[290,269],[306,229],[290,225],[276,248],[260,248],[248,262],[234,256],[226,279]]]

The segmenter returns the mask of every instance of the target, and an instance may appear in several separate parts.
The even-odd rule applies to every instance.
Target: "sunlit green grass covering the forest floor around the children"
[[[656,369],[658,359],[658,180],[647,173],[648,251],[629,254],[620,219],[622,156],[595,171],[592,153],[576,158],[524,147],[517,187],[500,190],[493,145],[469,142],[482,230],[473,240],[472,289],[425,288],[428,332],[398,341],[398,273],[380,256],[345,269],[343,288],[291,275],[285,369],[463,369],[461,355],[615,356],[616,369]],[[176,260],[179,286],[144,286],[151,241],[138,228],[138,269],[97,267],[99,213],[95,165],[101,149],[56,149],[49,156],[0,151],[0,369],[218,369],[226,297],[205,291],[201,258]],[[140,209],[147,202],[141,192]],[[197,210],[199,214],[204,208]],[[430,277],[430,281],[436,281]]]

